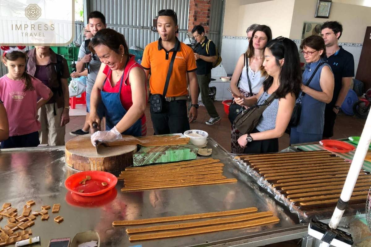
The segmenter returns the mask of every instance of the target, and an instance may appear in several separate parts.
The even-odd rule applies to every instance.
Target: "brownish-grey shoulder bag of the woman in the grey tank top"
[[[234,120],[234,126],[241,134],[251,133],[253,129],[257,126],[263,111],[272,103],[276,97],[276,92],[272,93],[268,99],[264,100],[263,104],[253,104],[247,110],[243,110]]]

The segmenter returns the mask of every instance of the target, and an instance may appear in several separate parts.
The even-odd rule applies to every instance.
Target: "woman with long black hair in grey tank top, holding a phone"
[[[278,152],[278,137],[289,124],[295,100],[301,87],[301,68],[296,44],[282,36],[267,43],[263,66],[269,77],[256,96],[246,100],[236,97],[236,103],[250,107],[262,104],[272,93],[275,99],[265,109],[256,128],[242,135],[238,143],[244,153]]]

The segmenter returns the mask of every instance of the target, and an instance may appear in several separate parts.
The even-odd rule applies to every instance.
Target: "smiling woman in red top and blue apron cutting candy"
[[[99,30],[89,49],[102,61],[91,93],[89,125],[100,124],[96,106],[101,100],[106,110],[106,131],[92,135],[93,145],[95,141],[120,140],[121,134],[145,135],[145,73],[129,54],[124,36],[113,29]]]

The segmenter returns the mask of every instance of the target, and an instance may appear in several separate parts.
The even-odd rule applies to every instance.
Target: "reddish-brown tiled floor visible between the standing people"
[[[221,101],[215,101],[214,104],[221,117],[221,121],[211,126],[205,124],[205,122],[209,120],[210,116],[207,114],[205,107],[200,106],[200,108],[198,108],[197,121],[190,124],[191,129],[207,131],[207,133],[209,133],[209,137],[216,140],[227,151],[230,151],[230,122],[228,120],[228,116],[224,112],[223,104],[221,103]],[[147,135],[152,135],[154,131],[152,127],[150,109],[148,108],[148,106],[145,111],[145,115],[147,117]],[[85,116],[70,117],[70,122],[66,126],[66,142],[73,138],[73,136],[71,136],[69,132],[82,128],[84,122]],[[349,136],[360,136],[364,124],[365,120],[363,119],[359,119],[355,116],[347,116],[344,113],[339,113],[335,123],[333,139],[348,138]],[[288,146],[289,136],[288,134],[284,134],[282,137],[279,138],[279,150],[282,150]]]

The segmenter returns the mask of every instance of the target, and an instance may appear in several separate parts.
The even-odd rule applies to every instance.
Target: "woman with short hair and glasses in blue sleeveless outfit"
[[[290,144],[322,140],[325,106],[330,103],[334,93],[334,74],[323,59],[326,46],[321,36],[307,37],[300,49],[308,64],[305,66],[301,94],[297,100],[302,105],[300,119],[298,126],[291,127]]]

